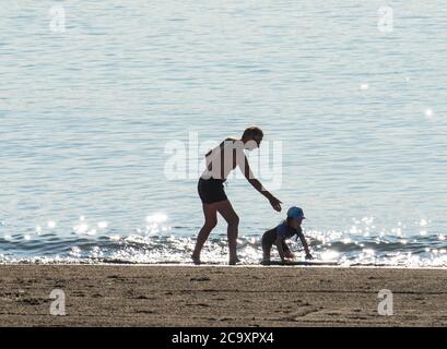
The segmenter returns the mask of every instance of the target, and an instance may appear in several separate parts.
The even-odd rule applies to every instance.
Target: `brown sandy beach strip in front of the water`
[[[1,326],[446,326],[447,270],[1,265]],[[66,315],[50,315],[50,292]],[[380,289],[393,315],[378,315]]]

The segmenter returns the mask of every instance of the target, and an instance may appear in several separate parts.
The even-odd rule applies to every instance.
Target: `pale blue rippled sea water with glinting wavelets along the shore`
[[[197,180],[168,180],[166,146],[258,124],[282,142],[273,192],[304,208],[317,257],[447,266],[443,1],[388,1],[389,33],[383,1],[7,2],[1,262],[189,261]],[[228,182],[258,263],[284,213]],[[225,229],[204,261],[226,261]]]

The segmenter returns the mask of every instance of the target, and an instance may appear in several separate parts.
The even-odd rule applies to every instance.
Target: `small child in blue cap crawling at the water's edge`
[[[309,246],[306,239],[304,238],[301,227],[303,219],[306,219],[304,217],[303,209],[293,206],[289,208],[287,218],[283,222],[281,222],[278,227],[264,232],[264,234],[262,236],[263,265],[270,264],[270,250],[273,243],[277,245],[281,261],[283,263],[285,262],[285,258],[294,258],[295,256],[289,249],[285,240],[292,238],[295,234],[299,238],[304,250],[306,251],[306,260],[314,258],[310,254]]]

